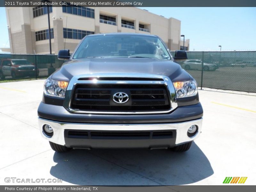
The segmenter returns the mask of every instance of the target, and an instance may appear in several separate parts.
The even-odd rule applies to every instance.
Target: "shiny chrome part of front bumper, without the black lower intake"
[[[86,123],[63,123],[51,120],[38,118],[41,135],[60,145],[65,145],[64,130],[95,130],[95,131],[152,131],[152,130],[176,130],[175,145],[180,145],[199,137],[202,130],[203,118],[186,121],[182,123],[168,123],[168,124],[86,124]],[[43,125],[49,124],[53,129],[53,136],[47,137],[43,133]],[[197,125],[198,131],[195,136],[188,137],[187,131],[191,125]],[[99,141],[100,142],[100,141]],[[173,147],[174,147],[173,146]],[[108,147],[108,146],[106,146]],[[133,146],[134,147],[134,146]]]

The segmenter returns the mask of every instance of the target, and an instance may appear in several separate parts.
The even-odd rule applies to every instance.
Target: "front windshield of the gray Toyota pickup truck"
[[[91,57],[137,57],[170,60],[171,56],[158,37],[140,35],[87,36],[73,59]]]

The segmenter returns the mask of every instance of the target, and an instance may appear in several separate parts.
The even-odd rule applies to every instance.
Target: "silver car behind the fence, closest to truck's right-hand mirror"
[[[202,69],[202,61],[201,60],[187,60],[183,63],[182,67],[186,70],[190,70],[190,69],[201,70]],[[214,71],[217,68],[219,68],[217,64],[210,64],[210,63],[203,64],[204,71],[210,71],[210,70]]]

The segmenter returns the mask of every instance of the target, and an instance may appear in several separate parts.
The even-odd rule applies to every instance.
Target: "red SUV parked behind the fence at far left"
[[[0,78],[4,79],[6,76],[12,78],[25,77],[25,76],[39,75],[39,69],[36,70],[26,59],[2,59],[0,61]]]

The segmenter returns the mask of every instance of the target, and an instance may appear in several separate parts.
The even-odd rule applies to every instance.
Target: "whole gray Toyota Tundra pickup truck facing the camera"
[[[201,133],[197,84],[154,35],[88,35],[44,83],[39,128],[53,150],[187,151]]]

